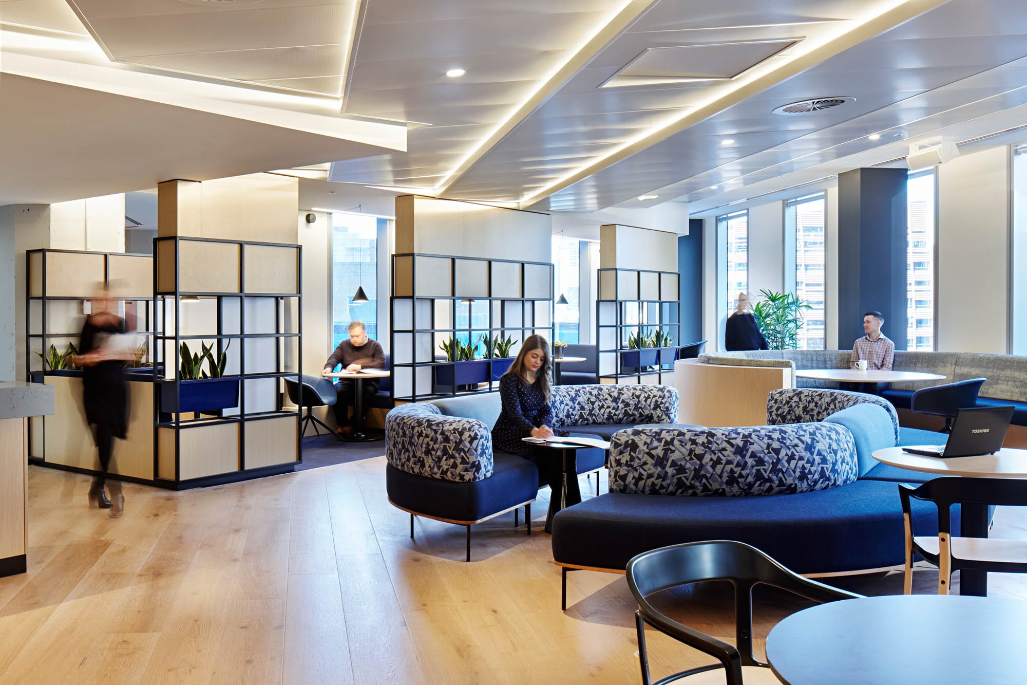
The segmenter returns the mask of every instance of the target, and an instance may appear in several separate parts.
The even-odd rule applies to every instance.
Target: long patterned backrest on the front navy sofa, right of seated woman
[[[783,495],[837,488],[858,476],[852,434],[837,424],[632,428],[610,442],[611,493]]]

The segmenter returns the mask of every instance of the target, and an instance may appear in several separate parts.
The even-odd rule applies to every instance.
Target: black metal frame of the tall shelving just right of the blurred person
[[[276,399],[276,410],[275,411],[258,411],[246,413],[245,410],[245,382],[248,380],[260,380],[260,378],[286,378],[292,377],[299,382],[300,375],[303,369],[303,248],[300,245],[291,245],[289,243],[262,243],[257,241],[232,241],[223,239],[213,239],[213,238],[193,238],[193,237],[158,237],[153,239],[153,254],[158,254],[158,245],[162,242],[174,242],[175,244],[175,290],[166,291],[159,290],[157,288],[157,259],[153,260],[153,284],[154,284],[154,296],[153,296],[153,310],[155,323],[159,325],[154,331],[154,348],[159,351],[159,360],[164,361],[166,366],[166,360],[163,359],[164,356],[164,342],[168,340],[175,340],[174,347],[174,366],[167,366],[165,372],[175,373],[174,378],[163,378],[159,377],[157,371],[158,358],[155,355],[154,360],[154,371],[153,371],[153,411],[154,411],[154,431],[153,431],[153,474],[154,480],[158,483],[181,483],[185,482],[181,479],[181,441],[180,441],[180,431],[183,429],[197,428],[200,426],[211,426],[216,424],[245,424],[252,421],[263,421],[267,419],[277,419],[280,417],[295,416],[296,417],[296,454],[297,463],[303,462],[303,436],[300,433],[300,420],[302,414],[300,411],[290,411],[282,410],[283,401],[282,393],[279,386],[277,399]],[[234,292],[210,292],[210,291],[186,291],[181,289],[181,252],[180,246],[183,242],[190,243],[220,243],[228,245],[239,246],[239,262],[238,262],[238,277],[239,277],[239,289]],[[246,246],[259,246],[259,247],[280,247],[296,250],[296,280],[297,280],[297,292],[295,293],[268,293],[268,292],[248,292],[245,283],[245,254]],[[217,310],[218,310],[218,332],[212,335],[181,335],[182,330],[182,297],[210,297],[216,298]],[[238,299],[238,333],[224,333],[223,331],[223,314],[224,314],[224,300],[226,299]],[[245,316],[245,300],[246,299],[274,299],[274,333],[246,333],[246,316]],[[282,326],[286,322],[282,321],[282,304],[287,299],[296,300],[296,325],[297,330],[293,333],[282,333]],[[158,301],[161,301],[161,305],[158,307]],[[175,312],[175,334],[166,334],[167,330],[167,305],[170,303]],[[159,312],[159,317],[158,317]],[[253,372],[246,373],[246,359],[245,359],[245,340],[251,338],[278,338],[278,339],[292,339],[298,340],[297,348],[297,370],[296,371],[286,371],[282,369],[282,355],[281,355],[281,345],[274,346],[274,356],[275,356],[275,368],[276,371],[264,371],[264,372]],[[160,419],[160,388],[161,386],[175,385],[176,396],[181,396],[182,393],[182,377],[179,374],[179,364],[178,364],[178,351],[182,345],[183,340],[197,340],[197,339],[216,339],[218,342],[218,354],[222,352],[221,342],[224,339],[240,339],[238,346],[239,355],[239,404],[238,413],[231,414],[228,417],[207,417],[201,419],[182,419],[182,413],[173,413],[174,420],[172,421],[161,421]],[[168,480],[166,478],[161,478],[159,473],[159,433],[157,429],[174,429],[175,430],[175,479]],[[238,434],[238,450],[239,450],[239,468],[238,471],[234,473],[258,473],[264,472],[269,469],[269,467],[257,467],[255,469],[246,469],[245,464],[245,430],[240,430]],[[231,473],[222,474],[219,476],[213,476],[214,478],[225,478],[231,476]],[[237,479],[237,478],[229,478]],[[204,479],[205,480],[205,479]]]

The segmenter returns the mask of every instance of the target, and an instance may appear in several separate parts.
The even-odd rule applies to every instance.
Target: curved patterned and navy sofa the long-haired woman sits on
[[[609,438],[639,424],[672,423],[678,393],[667,386],[557,386],[554,423]],[[389,502],[414,516],[467,527],[525,507],[531,535],[531,503],[538,494],[538,470],[531,462],[492,448],[499,418],[498,393],[463,395],[402,404],[385,419],[385,486]],[[603,468],[602,449],[579,449],[579,474]],[[599,478],[597,477],[597,483]]]

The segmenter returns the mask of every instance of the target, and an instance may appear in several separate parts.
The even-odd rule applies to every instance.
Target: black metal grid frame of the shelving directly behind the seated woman
[[[467,297],[465,295],[457,295],[457,294],[439,295],[439,296],[435,296],[435,295],[430,295],[430,296],[418,295],[417,294],[417,260],[418,260],[419,257],[422,257],[422,258],[423,257],[427,257],[427,258],[433,258],[433,259],[447,259],[447,260],[449,260],[449,262],[450,262],[449,276],[450,276],[450,292],[451,293],[456,293],[457,292],[457,281],[456,281],[456,262],[457,262],[457,260],[488,262],[486,278],[488,280],[488,289],[487,289],[487,291],[489,292],[489,296]],[[395,292],[396,292],[396,274],[397,274],[396,262],[400,259],[408,259],[408,258],[410,259],[410,291],[411,291],[411,294],[410,295],[396,295],[395,294]],[[493,297],[492,296],[492,292],[493,292],[493,289],[492,289],[492,264],[493,263],[509,263],[509,264],[519,264],[520,265],[520,267],[521,267],[520,268],[521,293],[522,293],[522,295],[525,292],[525,266],[526,265],[534,265],[534,266],[544,266],[544,267],[546,267],[548,269],[548,274],[549,274],[549,296],[548,297],[524,297],[524,296],[522,296],[522,297]],[[400,400],[411,400],[411,401],[415,401],[416,402],[416,401],[419,401],[419,400],[426,400],[426,399],[432,399],[432,398],[454,397],[454,396],[458,396],[458,395],[472,395],[472,394],[476,394],[476,393],[493,392],[493,391],[498,390],[498,382],[492,380],[492,375],[493,375],[493,373],[492,373],[492,364],[496,360],[495,359],[485,359],[485,358],[482,358],[482,359],[478,359],[478,360],[474,360],[474,361],[488,362],[488,364],[489,364],[489,381],[487,382],[487,384],[483,384],[483,385],[487,385],[487,388],[476,387],[474,389],[469,390],[469,391],[460,391],[460,390],[458,390],[459,386],[456,384],[456,378],[454,377],[454,384],[452,386],[452,391],[449,392],[449,393],[446,393],[446,394],[440,394],[440,393],[434,393],[434,392],[419,393],[418,392],[418,386],[417,386],[417,369],[418,368],[432,368],[433,369],[433,368],[443,367],[443,366],[453,366],[453,367],[455,367],[456,364],[461,363],[461,362],[446,361],[446,360],[435,360],[435,359],[432,359],[432,361],[427,361],[427,362],[419,362],[419,361],[417,361],[417,335],[419,333],[427,333],[427,334],[429,334],[431,336],[432,358],[434,357],[434,337],[435,337],[436,333],[449,333],[450,336],[451,336],[451,338],[455,338],[458,333],[466,333],[468,335],[468,340],[469,340],[470,339],[470,335],[472,333],[479,333],[479,334],[486,333],[490,337],[492,337],[492,336],[494,336],[497,333],[502,333],[504,335],[507,335],[509,333],[512,333],[512,332],[516,332],[516,331],[520,331],[521,332],[521,339],[523,341],[524,338],[526,337],[525,334],[528,331],[544,330],[544,331],[548,332],[547,337],[551,340],[553,339],[553,331],[554,331],[554,321],[553,321],[553,319],[554,319],[554,316],[553,316],[553,288],[554,288],[554,266],[553,266],[551,262],[545,262],[545,261],[525,261],[525,260],[518,260],[518,259],[491,259],[491,258],[488,258],[488,257],[464,257],[464,256],[459,256],[459,255],[441,255],[441,254],[427,254],[427,253],[414,253],[414,252],[408,252],[408,253],[402,253],[402,254],[394,254],[394,255],[392,255],[392,269],[391,269],[391,276],[390,276],[390,296],[389,296],[389,324],[390,324],[390,327],[389,327],[389,349],[392,352],[392,362],[391,362],[391,365],[392,365],[393,368],[409,368],[409,369],[411,369],[411,378],[410,378],[411,380],[411,393],[409,395],[396,395],[395,389],[396,389],[397,383],[396,383],[395,373],[393,372],[393,374],[392,374],[392,390],[390,391],[391,399],[393,401],[400,399]],[[420,301],[420,300],[429,301],[430,302],[430,305],[429,305],[429,311],[430,311],[429,321],[426,322],[428,325],[425,326],[425,327],[418,327],[419,317],[417,316],[417,302]],[[434,304],[435,300],[453,300],[453,307],[452,307],[452,310],[451,310],[451,314],[452,314],[452,316],[451,316],[452,326],[449,326],[449,327],[439,327],[439,326],[436,326],[436,321],[435,321],[435,304]],[[458,307],[458,302],[456,300],[460,300],[460,302],[463,302],[465,300],[470,300],[467,303],[467,326],[465,326],[465,327],[459,327],[459,328],[457,327],[457,310],[456,310],[456,308]],[[394,327],[395,326],[395,320],[396,320],[396,314],[395,314],[396,302],[400,302],[400,301],[408,301],[408,302],[410,302],[410,322],[411,322],[411,328],[395,328]],[[473,302],[473,301],[488,302],[488,316],[489,316],[489,325],[488,326],[486,326],[486,327],[479,327],[479,326],[471,325],[471,314],[472,313],[471,313],[471,303],[470,302]],[[505,325],[505,322],[506,322],[506,308],[503,304],[500,304],[500,308],[499,308],[499,325],[496,325],[496,321],[495,321],[496,312],[495,312],[495,307],[493,307],[494,302],[521,302],[521,321],[522,321],[522,325],[520,325],[520,326],[507,326],[507,325]],[[534,325],[535,322],[536,322],[535,304],[537,302],[548,302],[548,321],[549,321],[549,323],[548,323],[547,326]],[[526,314],[526,308],[527,307],[531,307],[531,309],[532,309],[532,324],[533,325],[531,325],[531,326],[525,326],[525,325],[523,325],[523,322],[526,321],[525,314]],[[410,361],[410,362],[396,362],[395,361],[395,353],[396,353],[396,349],[397,349],[396,348],[396,335],[401,335],[401,334],[402,335],[409,335],[411,337],[411,359],[412,359],[412,361]],[[435,384],[435,381],[434,381],[434,372],[432,372],[432,380],[431,380],[431,390],[432,391],[434,390],[435,385],[436,384]]]

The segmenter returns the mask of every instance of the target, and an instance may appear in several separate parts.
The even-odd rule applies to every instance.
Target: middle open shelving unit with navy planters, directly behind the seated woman
[[[406,253],[392,257],[393,400],[423,400],[498,390],[521,342],[553,339],[553,264]],[[447,361],[440,346],[482,335],[514,338],[510,357]],[[442,358],[440,358],[442,357]]]

